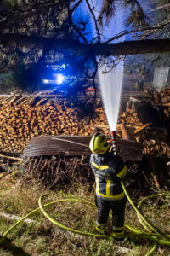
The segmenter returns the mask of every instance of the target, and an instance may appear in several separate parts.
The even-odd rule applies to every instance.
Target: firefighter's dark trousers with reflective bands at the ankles
[[[110,210],[112,211],[112,229],[115,233],[122,233],[124,230],[124,215],[127,198],[124,196],[121,200],[109,201],[98,196],[95,197],[95,203],[98,207],[97,225],[105,228]]]

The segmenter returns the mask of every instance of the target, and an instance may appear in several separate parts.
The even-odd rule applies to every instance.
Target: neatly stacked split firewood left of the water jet
[[[57,99],[14,96],[0,101],[0,151],[22,153],[32,137],[42,135],[92,135],[93,127],[107,124],[104,111],[94,119],[81,117],[73,103]]]

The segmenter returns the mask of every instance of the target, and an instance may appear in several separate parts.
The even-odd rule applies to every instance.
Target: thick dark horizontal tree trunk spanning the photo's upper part
[[[20,44],[28,49],[38,47],[42,49],[65,49],[70,48],[75,51],[77,55],[94,54],[94,55],[135,55],[145,53],[161,53],[170,51],[170,39],[156,39],[156,40],[140,40],[140,41],[125,41],[123,43],[97,43],[84,44],[73,40],[55,39],[55,38],[41,38],[26,36],[20,34],[1,34],[0,44],[4,47],[10,44],[11,47]]]

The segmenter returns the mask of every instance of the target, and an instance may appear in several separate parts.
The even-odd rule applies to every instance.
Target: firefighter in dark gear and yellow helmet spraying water
[[[92,151],[90,166],[95,176],[95,203],[98,207],[96,230],[107,234],[106,223],[112,210],[112,235],[122,236],[126,195],[121,180],[127,177],[127,166],[119,156],[110,152],[110,144],[102,133],[94,133],[89,148]]]

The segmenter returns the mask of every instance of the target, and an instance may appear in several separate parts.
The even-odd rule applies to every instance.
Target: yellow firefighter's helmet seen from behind
[[[90,150],[95,154],[105,154],[105,152],[110,148],[107,143],[107,138],[104,134],[94,134],[92,137],[90,144]]]

